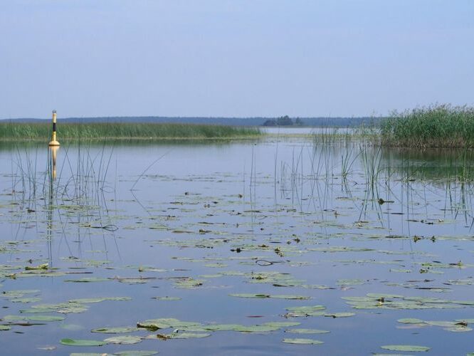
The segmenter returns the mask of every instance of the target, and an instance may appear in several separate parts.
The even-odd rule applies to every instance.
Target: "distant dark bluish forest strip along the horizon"
[[[48,122],[50,119],[4,119],[11,122]],[[361,125],[377,125],[381,117],[159,117],[159,116],[111,116],[111,117],[66,117],[58,118],[58,122],[174,122],[183,124],[208,124],[232,126],[310,126],[310,127],[357,127]]]

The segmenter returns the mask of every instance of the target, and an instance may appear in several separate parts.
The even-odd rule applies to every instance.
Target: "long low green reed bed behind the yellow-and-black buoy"
[[[51,138],[49,123],[0,123],[0,140],[45,140]],[[224,140],[257,137],[260,130],[253,127],[224,125],[194,125],[174,123],[88,123],[58,122],[58,140],[94,139],[159,139],[159,140]]]

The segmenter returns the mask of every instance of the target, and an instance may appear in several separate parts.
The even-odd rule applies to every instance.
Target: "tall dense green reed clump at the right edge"
[[[474,108],[433,105],[394,112],[381,125],[381,143],[396,147],[473,147]]]

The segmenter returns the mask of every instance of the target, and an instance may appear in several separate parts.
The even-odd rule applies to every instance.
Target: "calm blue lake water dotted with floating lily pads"
[[[5,355],[474,352],[469,152],[61,143],[0,147]]]

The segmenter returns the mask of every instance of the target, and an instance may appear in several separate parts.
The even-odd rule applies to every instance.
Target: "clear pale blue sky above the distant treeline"
[[[473,0],[1,0],[0,118],[474,105]]]

